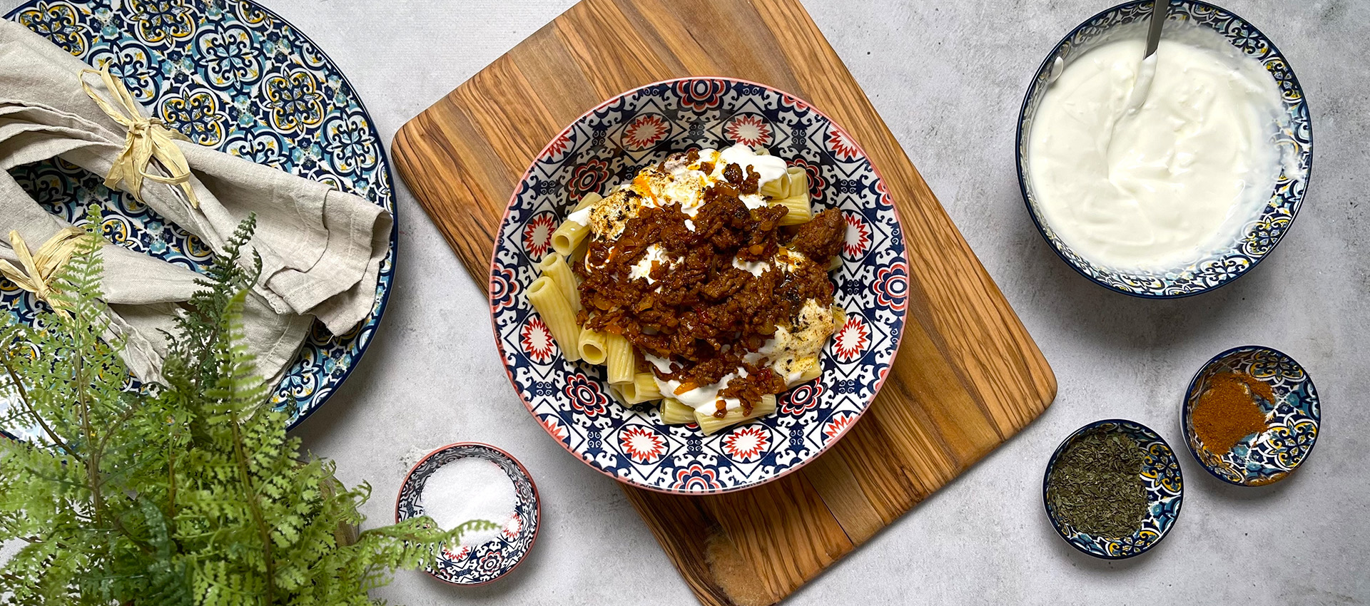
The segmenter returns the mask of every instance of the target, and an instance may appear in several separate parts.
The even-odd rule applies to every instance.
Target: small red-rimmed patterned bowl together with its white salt
[[[469,529],[460,544],[443,547],[427,569],[434,579],[480,585],[512,572],[537,539],[537,486],[508,453],[477,442],[443,446],[410,469],[395,501],[395,521],[429,516],[443,529],[473,520],[496,524]]]

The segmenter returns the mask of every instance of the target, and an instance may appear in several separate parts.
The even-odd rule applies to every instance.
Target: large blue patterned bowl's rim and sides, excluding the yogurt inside
[[[1197,0],[1170,0],[1170,12],[1166,19],[1188,22],[1218,31],[1238,51],[1247,56],[1260,60],[1266,70],[1274,75],[1280,90],[1284,93],[1284,107],[1288,116],[1285,127],[1271,142],[1271,145],[1288,148],[1288,152],[1297,159],[1299,170],[1285,170],[1275,182],[1270,202],[1266,204],[1259,216],[1247,222],[1241,230],[1241,237],[1211,254],[1192,259],[1188,263],[1167,271],[1121,271],[1096,264],[1070,249],[1052,227],[1043,219],[1033,194],[1032,181],[1028,178],[1028,141],[1032,133],[1033,116],[1043,94],[1056,59],[1069,64],[1081,53],[1099,44],[1114,40],[1122,26],[1129,23],[1145,23],[1151,19],[1151,0],[1133,0],[1107,11],[1103,11],[1077,26],[1047,55],[1047,59],[1037,68],[1023,105],[1018,114],[1018,185],[1022,189],[1023,201],[1032,215],[1033,223],[1043,238],[1051,245],[1070,267],[1095,283],[1119,293],[1145,298],[1174,298],[1199,294],[1210,289],[1232,282],[1245,274],[1274,250],[1280,238],[1289,230],[1299,207],[1303,204],[1303,193],[1308,186],[1308,176],[1312,171],[1312,123],[1308,118],[1308,105],[1303,97],[1303,88],[1299,78],[1293,75],[1289,63],[1265,34],[1251,23],[1237,15]]]

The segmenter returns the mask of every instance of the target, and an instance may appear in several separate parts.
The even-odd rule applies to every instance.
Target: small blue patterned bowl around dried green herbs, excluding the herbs
[[[1060,521],[1051,502],[1047,501],[1047,482],[1051,479],[1051,472],[1056,468],[1056,458],[1080,436],[1096,431],[1122,432],[1137,440],[1141,449],[1147,451],[1143,458],[1141,482],[1147,490],[1148,510],[1145,520],[1141,523],[1141,529],[1133,532],[1130,536],[1106,538],[1077,531],[1074,527]],[[1069,438],[1060,442],[1055,453],[1051,453],[1051,461],[1047,462],[1047,473],[1041,480],[1041,501],[1047,508],[1047,518],[1051,520],[1051,525],[1056,528],[1060,538],[1066,539],[1066,543],[1070,543],[1071,547],[1096,558],[1123,559],[1147,551],[1156,543],[1160,543],[1160,539],[1166,538],[1170,528],[1175,525],[1175,518],[1180,517],[1180,505],[1185,498],[1184,483],[1184,475],[1180,472],[1180,458],[1175,457],[1175,451],[1170,450],[1170,445],[1159,434],[1141,423],[1123,419],[1106,419],[1075,430],[1074,434],[1070,434]]]

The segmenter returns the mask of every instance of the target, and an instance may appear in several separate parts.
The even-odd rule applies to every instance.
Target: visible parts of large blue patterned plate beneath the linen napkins
[[[78,59],[111,66],[138,103],[192,141],[337,186],[395,213],[390,168],[362,100],[310,38],[251,0],[30,0],[7,19]],[[63,219],[104,207],[105,239],[203,271],[211,250],[97,175],[63,161],[11,174]],[[399,223],[396,223],[399,224]],[[295,401],[289,427],[318,410],[371,342],[395,279],[395,243],[381,263],[371,313],[351,332],[322,323],[304,341],[271,401]],[[0,279],[0,311],[32,323],[29,293]],[[26,428],[5,428],[19,438]]]

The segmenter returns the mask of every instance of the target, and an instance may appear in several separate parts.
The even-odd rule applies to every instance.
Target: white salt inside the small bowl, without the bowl
[[[519,521],[514,516],[518,497],[514,482],[497,464],[467,457],[437,468],[423,482],[419,505],[433,521],[449,531],[471,520],[499,524],[490,531],[470,531],[462,536],[462,546],[478,546],[495,540],[501,531],[518,533]]]

